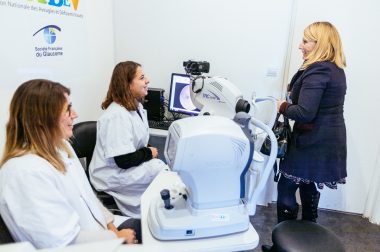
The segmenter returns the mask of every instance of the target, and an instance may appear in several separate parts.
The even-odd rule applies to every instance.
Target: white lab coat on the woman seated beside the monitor
[[[156,175],[167,168],[159,159],[151,159],[129,169],[119,168],[114,160],[146,147],[149,126],[146,110],[128,111],[111,103],[97,123],[95,151],[90,164],[93,186],[112,195],[119,209],[126,215],[140,218],[140,198]]]

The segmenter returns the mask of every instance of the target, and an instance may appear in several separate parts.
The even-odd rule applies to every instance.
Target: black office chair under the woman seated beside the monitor
[[[88,167],[90,165],[96,144],[96,121],[86,121],[75,124],[73,128],[73,136],[70,138],[70,143],[78,158],[84,158],[85,172],[88,180],[90,181]],[[120,213],[120,210],[111,195],[106,192],[97,191],[95,188],[93,189],[105,207],[113,213]]]

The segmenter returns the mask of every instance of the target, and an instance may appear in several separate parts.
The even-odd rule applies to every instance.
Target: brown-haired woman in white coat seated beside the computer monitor
[[[136,218],[142,193],[167,167],[157,159],[157,149],[148,146],[149,126],[141,104],[148,84],[140,64],[126,61],[115,66],[89,167],[93,186],[112,195],[125,215]]]

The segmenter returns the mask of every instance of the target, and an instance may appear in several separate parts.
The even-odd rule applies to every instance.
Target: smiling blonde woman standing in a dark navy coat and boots
[[[294,120],[288,153],[280,165],[278,222],[296,219],[299,188],[302,219],[316,222],[320,193],[345,183],[346,126],[343,117],[346,66],[336,28],[316,22],[304,30],[299,46],[304,62],[289,84],[289,98],[279,112]]]

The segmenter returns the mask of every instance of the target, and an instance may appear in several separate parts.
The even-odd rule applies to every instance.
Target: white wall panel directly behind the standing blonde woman
[[[301,64],[298,45],[303,29],[314,21],[330,21],[340,32],[347,57],[348,177],[339,190],[324,189],[320,207],[363,213],[376,153],[379,149],[378,85],[380,51],[380,2],[376,0],[297,1],[289,80]]]

